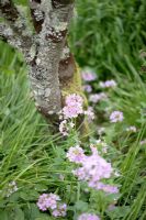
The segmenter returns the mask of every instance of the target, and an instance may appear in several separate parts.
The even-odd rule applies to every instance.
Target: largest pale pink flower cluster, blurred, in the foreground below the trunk
[[[70,162],[80,163],[81,167],[72,170],[74,175],[79,180],[87,182],[88,186],[97,190],[103,190],[109,194],[117,193],[117,188],[111,185],[105,185],[101,180],[110,178],[113,174],[111,164],[102,158],[97,148],[91,145],[92,154],[90,156],[85,155],[81,147],[70,147],[67,157]]]

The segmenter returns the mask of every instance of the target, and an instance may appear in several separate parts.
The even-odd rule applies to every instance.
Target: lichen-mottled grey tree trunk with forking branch
[[[0,2],[0,36],[24,54],[35,103],[45,117],[60,111],[60,89],[76,69],[66,40],[74,0],[30,0],[31,30],[20,7]]]

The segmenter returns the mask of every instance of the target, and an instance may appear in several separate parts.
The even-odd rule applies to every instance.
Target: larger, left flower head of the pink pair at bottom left
[[[37,201],[37,207],[42,211],[46,211],[47,209],[56,209],[57,208],[57,201],[59,201],[59,196],[55,194],[43,194],[40,196]]]

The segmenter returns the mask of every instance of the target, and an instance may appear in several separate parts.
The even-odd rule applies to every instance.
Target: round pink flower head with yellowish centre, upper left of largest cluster
[[[85,152],[79,145],[71,146],[67,153],[67,158],[70,162],[80,163],[85,160]]]

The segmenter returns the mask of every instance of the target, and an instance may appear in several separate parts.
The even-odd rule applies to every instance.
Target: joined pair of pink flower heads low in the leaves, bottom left
[[[60,204],[60,198],[56,194],[42,194],[36,205],[42,211],[52,211],[54,217],[66,216],[67,205]]]

